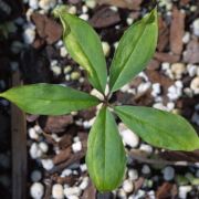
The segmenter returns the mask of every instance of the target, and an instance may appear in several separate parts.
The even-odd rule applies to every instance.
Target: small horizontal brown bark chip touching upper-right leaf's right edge
[[[163,52],[156,52],[154,57],[160,62],[168,62],[168,63],[176,63],[180,59],[179,55],[174,55],[174,54],[163,53]]]

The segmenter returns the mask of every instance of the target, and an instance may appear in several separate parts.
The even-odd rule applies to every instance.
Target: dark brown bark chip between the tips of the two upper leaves
[[[109,9],[108,7],[102,7],[91,18],[90,23],[97,29],[107,28],[114,25],[121,21],[118,12]]]

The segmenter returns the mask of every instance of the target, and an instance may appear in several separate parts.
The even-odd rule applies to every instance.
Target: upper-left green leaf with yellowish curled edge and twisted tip
[[[98,35],[88,23],[63,11],[63,8],[55,12],[63,25],[63,40],[69,53],[86,70],[91,84],[104,92],[107,71]]]

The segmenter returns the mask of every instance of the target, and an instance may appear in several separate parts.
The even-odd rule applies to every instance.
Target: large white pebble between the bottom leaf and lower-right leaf
[[[125,145],[128,145],[130,146],[132,148],[135,148],[138,146],[139,144],[139,138],[138,136],[133,133],[130,129],[126,128],[122,132],[119,132],[122,138],[123,138],[123,142]]]

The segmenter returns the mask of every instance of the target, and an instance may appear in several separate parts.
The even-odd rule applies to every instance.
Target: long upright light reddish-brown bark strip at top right
[[[185,34],[185,18],[186,14],[178,10],[176,7],[174,7],[169,42],[170,50],[175,54],[181,54],[184,48],[182,38]]]

